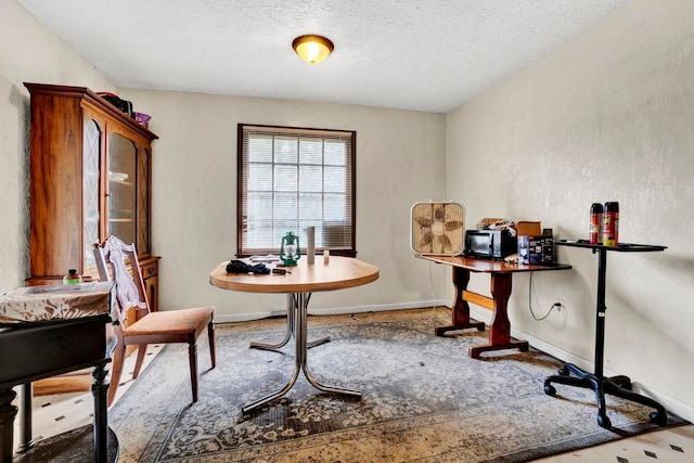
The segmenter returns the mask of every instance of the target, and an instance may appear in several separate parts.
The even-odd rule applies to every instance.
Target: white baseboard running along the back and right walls
[[[309,314],[312,316],[333,316],[333,314],[346,314],[346,313],[364,313],[364,312],[378,312],[385,310],[406,310],[406,309],[422,309],[427,307],[435,306],[446,306],[450,308],[450,300],[421,300],[416,303],[400,303],[400,304],[382,304],[375,306],[351,306],[351,307],[334,307],[334,308],[319,308],[319,309],[309,309]],[[241,321],[249,321],[249,320],[259,320],[268,317],[277,317],[279,313],[286,314],[286,309],[269,309],[264,312],[257,313],[236,313],[229,316],[215,316],[215,323],[224,323],[224,322],[241,322]],[[487,325],[491,321],[491,312],[490,311],[479,311],[474,308],[471,308],[471,318],[484,321]],[[534,337],[527,333],[520,332],[515,329],[511,329],[511,336],[516,339],[526,339],[530,346],[534,348],[541,350],[545,353],[549,353],[552,357],[555,357],[564,362],[573,363],[581,370],[592,371],[593,362],[591,360],[583,359],[578,357],[571,352],[567,352],[552,344],[548,344],[542,339]],[[605,375],[614,376],[616,373],[611,371],[605,371]],[[694,422],[694,408],[682,403],[678,400],[674,400],[668,396],[659,394],[656,390],[650,389],[647,386],[634,382],[632,383],[632,388],[635,393],[642,394],[646,397],[651,397],[654,400],[658,401],[666,408],[666,410],[677,414],[684,420],[690,422]]]

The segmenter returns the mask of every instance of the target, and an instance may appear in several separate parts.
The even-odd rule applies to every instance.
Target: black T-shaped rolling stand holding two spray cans
[[[652,412],[651,421],[664,426],[667,423],[667,412],[665,408],[655,400],[635,394],[631,390],[631,380],[628,376],[619,375],[613,377],[603,376],[603,357],[605,350],[605,276],[607,269],[607,253],[645,253],[665,250],[666,246],[652,246],[645,244],[620,243],[618,246],[603,246],[602,244],[590,244],[588,241],[578,240],[557,240],[554,244],[560,246],[584,247],[592,249],[593,254],[597,253],[597,305],[595,318],[595,372],[587,373],[578,366],[566,363],[558,371],[557,375],[548,376],[544,380],[544,393],[554,396],[556,389],[552,383],[564,384],[568,386],[583,387],[592,389],[595,393],[597,402],[597,424],[604,428],[611,428],[612,422],[607,416],[605,407],[605,394],[612,394],[646,407],[656,409]],[[571,373],[574,376],[571,376]]]

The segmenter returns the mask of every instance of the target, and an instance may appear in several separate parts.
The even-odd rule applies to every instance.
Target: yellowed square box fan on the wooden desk
[[[465,248],[465,210],[458,203],[416,203],[410,213],[410,245],[423,255],[458,256]]]

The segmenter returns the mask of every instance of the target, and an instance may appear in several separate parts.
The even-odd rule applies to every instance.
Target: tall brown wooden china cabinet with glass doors
[[[92,244],[136,243],[151,307],[152,142],[157,136],[85,87],[25,83],[31,95],[29,285],[68,269],[98,279]]]

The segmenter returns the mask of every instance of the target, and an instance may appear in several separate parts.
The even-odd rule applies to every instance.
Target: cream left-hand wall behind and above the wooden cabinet
[[[29,97],[23,82],[115,87],[37,23],[15,0],[0,0],[0,294],[29,276]]]

